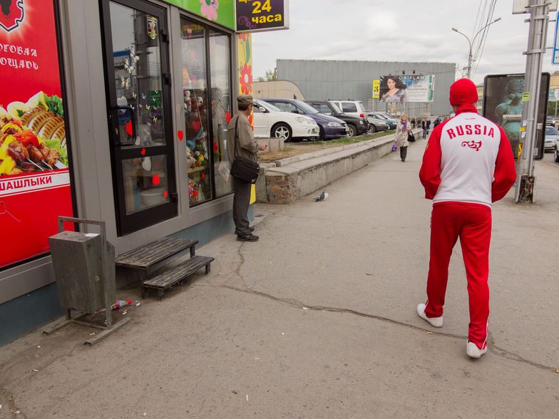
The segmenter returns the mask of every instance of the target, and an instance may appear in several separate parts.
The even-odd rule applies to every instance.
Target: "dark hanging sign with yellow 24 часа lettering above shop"
[[[289,29],[288,0],[236,0],[237,32]]]

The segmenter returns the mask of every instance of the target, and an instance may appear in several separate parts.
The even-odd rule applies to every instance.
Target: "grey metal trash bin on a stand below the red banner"
[[[96,224],[99,234],[65,231],[64,222]],[[70,321],[88,324],[81,320],[87,314],[106,311],[106,327],[88,324],[105,329],[86,343],[93,345],[126,324],[123,319],[113,326],[111,305],[116,294],[115,247],[107,242],[105,222],[90,219],[58,217],[58,234],[48,238],[51,257],[58,289],[58,299],[66,309],[66,321],[44,330],[52,333]],[[71,311],[80,311],[81,316],[72,319]]]

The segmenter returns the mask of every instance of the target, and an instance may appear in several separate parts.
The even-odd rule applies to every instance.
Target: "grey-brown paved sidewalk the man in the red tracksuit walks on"
[[[144,301],[93,348],[81,326],[0,348],[0,418],[556,418],[559,165],[537,163],[537,205],[509,194],[493,207],[491,351],[471,361],[459,247],[445,326],[415,313],[424,147],[344,177],[324,202],[257,206],[259,242],[200,249],[210,275]]]

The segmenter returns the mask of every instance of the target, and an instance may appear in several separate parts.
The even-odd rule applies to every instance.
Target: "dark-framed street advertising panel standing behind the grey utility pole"
[[[542,73],[537,120],[540,127],[545,127],[545,115],[548,113],[549,81],[549,73]],[[497,74],[486,76],[483,81],[483,116],[501,125],[511,142],[515,160],[520,155],[518,145],[525,93],[528,92],[524,91],[524,74]],[[543,157],[543,129],[538,129],[536,135],[534,155],[540,159]]]

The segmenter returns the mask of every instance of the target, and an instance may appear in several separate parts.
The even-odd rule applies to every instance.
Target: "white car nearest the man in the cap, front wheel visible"
[[[319,136],[319,126],[308,116],[283,112],[260,99],[254,100],[252,111],[255,115],[255,137],[283,138],[287,142]]]

